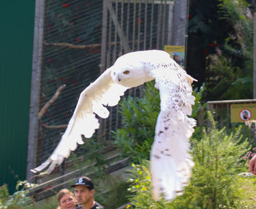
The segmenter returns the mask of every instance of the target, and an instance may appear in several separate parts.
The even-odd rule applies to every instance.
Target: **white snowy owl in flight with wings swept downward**
[[[191,86],[195,79],[162,50],[138,51],[119,57],[83,90],[59,145],[44,163],[31,171],[40,172],[49,166],[47,172],[50,173],[70,151],[83,144],[82,134],[90,138],[99,128],[95,114],[108,118],[106,106],[118,104],[124,91],[150,80],[155,80],[161,99],[151,148],[153,197],[171,201],[181,195],[194,165],[189,154],[189,137],[196,121],[187,115],[192,114],[192,104],[195,103]]]

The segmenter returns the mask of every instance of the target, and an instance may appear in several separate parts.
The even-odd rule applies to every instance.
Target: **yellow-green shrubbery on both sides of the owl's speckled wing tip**
[[[155,202],[151,197],[148,164],[133,165],[130,191],[134,196],[130,200],[134,208],[243,208],[247,204],[241,203],[244,178],[238,173],[246,168],[241,157],[248,150],[248,142],[241,141],[240,129],[229,135],[225,129],[217,129],[208,114],[211,128],[200,141],[192,141],[195,167],[184,194],[170,203],[163,199]]]

